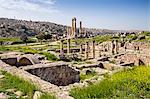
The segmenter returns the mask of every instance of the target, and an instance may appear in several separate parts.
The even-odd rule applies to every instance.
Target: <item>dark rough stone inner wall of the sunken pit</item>
[[[67,86],[80,81],[80,72],[67,65],[26,68],[26,71],[57,86]]]

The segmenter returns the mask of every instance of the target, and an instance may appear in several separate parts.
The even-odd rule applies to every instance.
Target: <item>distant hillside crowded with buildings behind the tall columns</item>
[[[26,21],[0,18],[0,37],[20,37],[21,35],[35,36],[42,32],[63,35],[67,26],[51,22]],[[85,28],[89,35],[114,34],[117,30]]]

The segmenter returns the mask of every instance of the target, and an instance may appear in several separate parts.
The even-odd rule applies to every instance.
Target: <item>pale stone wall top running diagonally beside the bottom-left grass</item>
[[[59,96],[58,92],[61,92],[61,90],[58,86],[48,83],[44,80],[41,80],[39,77],[34,76],[24,70],[21,70],[16,67],[12,67],[12,66],[2,62],[1,60],[0,60],[0,69],[3,71],[7,71],[8,73],[10,73],[12,75],[17,75],[17,76],[21,77],[22,79],[25,79],[25,80],[35,84],[36,86],[38,86],[40,88],[41,91],[53,93],[56,95],[56,97]]]

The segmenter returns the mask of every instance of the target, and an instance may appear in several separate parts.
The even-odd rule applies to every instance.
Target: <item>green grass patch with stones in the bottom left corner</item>
[[[23,92],[19,99],[22,99],[23,96],[28,96],[27,99],[32,99],[34,92],[39,91],[35,85],[30,84],[28,81],[17,76],[12,76],[6,72],[2,72],[2,74],[4,75],[4,78],[0,79],[0,93],[3,92],[9,95],[10,99],[16,99],[16,95],[13,92],[8,92],[8,89],[16,89],[17,91]],[[55,97],[44,93],[40,99],[55,99]]]

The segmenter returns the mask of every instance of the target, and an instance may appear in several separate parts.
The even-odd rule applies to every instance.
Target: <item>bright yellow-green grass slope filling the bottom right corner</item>
[[[89,87],[72,89],[70,95],[75,99],[150,98],[150,67],[125,69],[107,77]]]

